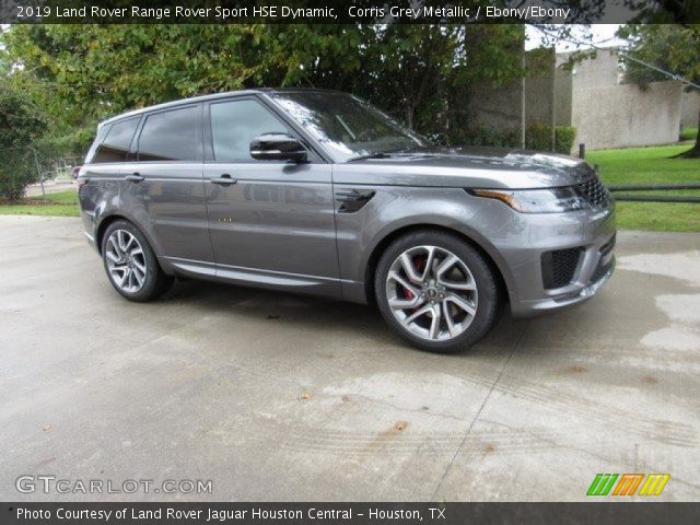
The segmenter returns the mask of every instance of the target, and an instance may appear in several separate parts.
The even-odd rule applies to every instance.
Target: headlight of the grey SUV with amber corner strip
[[[470,189],[469,194],[487,199],[497,199],[521,213],[558,213],[585,210],[586,200],[575,188],[548,189]]]

